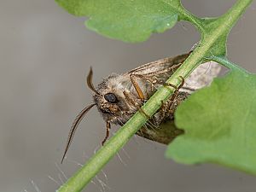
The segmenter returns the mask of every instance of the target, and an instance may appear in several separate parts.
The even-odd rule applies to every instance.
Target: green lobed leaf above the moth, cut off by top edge
[[[179,20],[179,0],[55,0],[77,16],[89,16],[91,30],[126,42],[144,41]],[[183,10],[184,11],[184,10]]]

